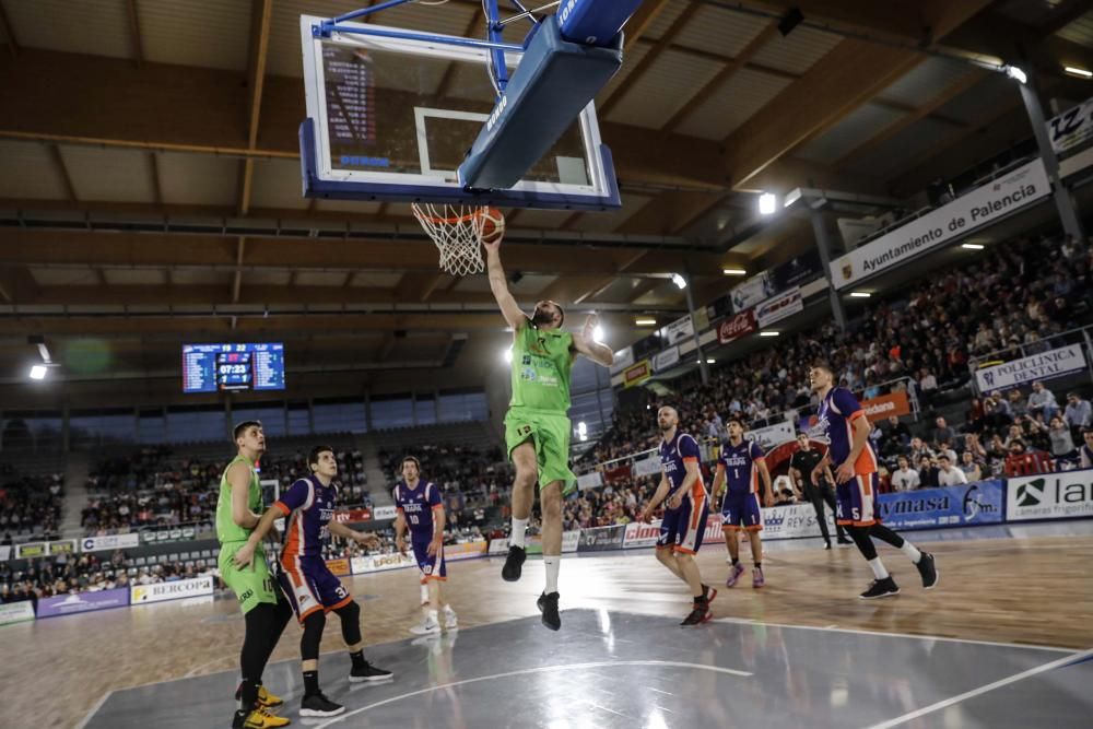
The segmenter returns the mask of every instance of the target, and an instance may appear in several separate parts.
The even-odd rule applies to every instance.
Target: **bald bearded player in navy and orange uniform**
[[[679,431],[679,422],[674,408],[663,407],[657,411],[657,425],[662,436],[660,485],[639,518],[648,522],[654,509],[667,499],[657,540],[657,560],[691,588],[694,607],[680,625],[697,625],[713,616],[709,603],[717,597],[717,590],[703,585],[694,561],[706,531],[709,501],[698,467],[698,444],[694,436]]]

